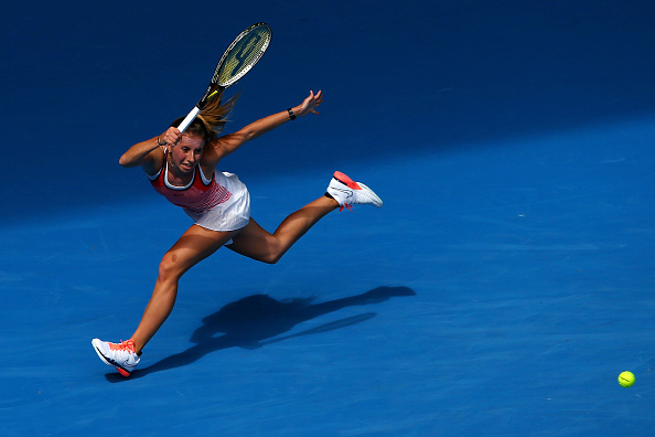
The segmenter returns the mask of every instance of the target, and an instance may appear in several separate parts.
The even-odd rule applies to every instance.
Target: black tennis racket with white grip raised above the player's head
[[[266,23],[253,24],[239,33],[221,56],[203,98],[178,126],[181,132],[186,130],[207,102],[218,94],[219,89],[234,85],[257,64],[268,49],[271,35],[270,26]]]

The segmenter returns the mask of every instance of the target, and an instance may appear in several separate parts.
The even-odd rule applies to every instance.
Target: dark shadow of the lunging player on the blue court
[[[313,299],[276,300],[267,295],[254,295],[227,303],[217,312],[205,317],[203,324],[191,335],[195,345],[168,356],[148,367],[132,372],[130,379],[141,377],[149,373],[160,372],[189,365],[205,356],[227,348],[256,349],[267,344],[288,340],[294,337],[314,334],[345,328],[366,321],[376,316],[365,312],[358,316],[321,324],[293,334],[282,335],[296,324],[337,311],[345,307],[379,303],[391,297],[415,296],[408,287],[378,287],[362,295],[322,303],[312,303]],[[222,333],[222,335],[217,335]],[[125,381],[118,373],[107,374],[110,382]]]

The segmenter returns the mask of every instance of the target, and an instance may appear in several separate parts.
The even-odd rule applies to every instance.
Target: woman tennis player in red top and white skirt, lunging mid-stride
[[[219,247],[253,259],[275,264],[319,220],[337,207],[354,204],[382,206],[382,200],[365,184],[335,172],[325,195],[296,211],[271,234],[250,217],[248,190],[236,174],[216,167],[223,158],[246,142],[308,114],[319,114],[321,92],[298,106],[257,120],[243,129],[218,136],[235,98],[222,103],[215,97],[181,134],[175,127],[183,117],[158,137],[138,142],[121,157],[122,167],[141,166],[154,190],[181,206],[194,224],[165,253],[152,297],[141,322],[129,340],[110,343],[94,339],[92,344],[105,364],[129,376],[140,361],[143,347],[167,320],[175,303],[178,281],[191,267]],[[341,211],[340,210],[340,211]]]

